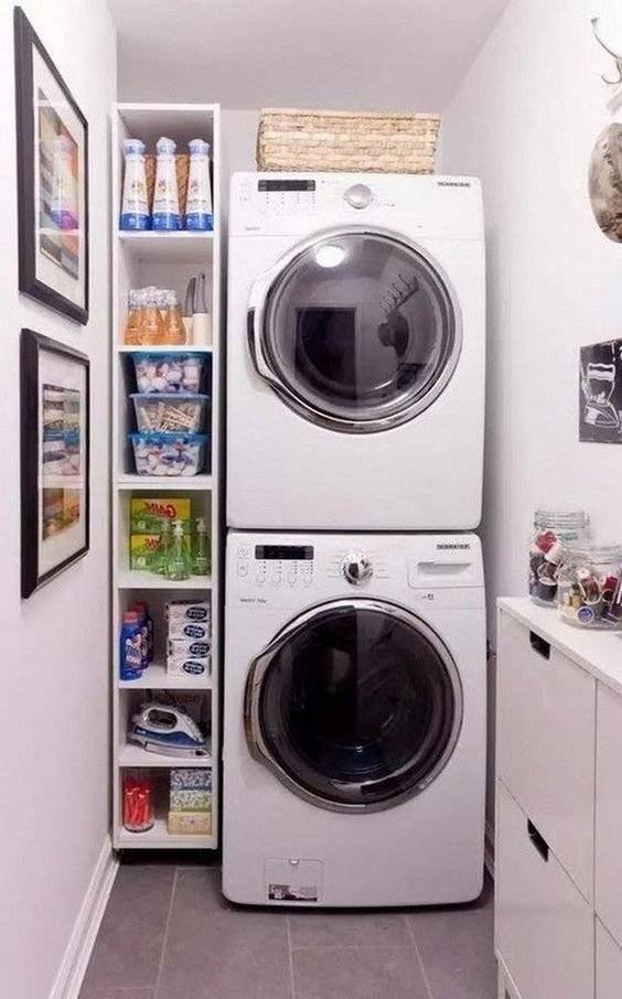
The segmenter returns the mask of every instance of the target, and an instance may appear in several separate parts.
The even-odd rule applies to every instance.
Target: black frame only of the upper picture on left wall
[[[88,322],[89,308],[88,123],[21,7],[15,7],[13,10],[13,26],[15,49],[19,288],[24,294],[37,299],[50,309],[54,309],[62,315],[66,315],[68,319],[85,325]],[[66,294],[63,294],[37,277],[35,155],[39,155],[39,151],[35,149],[33,86],[33,54],[35,51],[41,56],[56,86],[84,129],[84,208],[81,219],[81,222],[83,221],[82,227],[84,230],[84,264],[79,284],[79,288],[83,289],[83,304],[72,301]]]

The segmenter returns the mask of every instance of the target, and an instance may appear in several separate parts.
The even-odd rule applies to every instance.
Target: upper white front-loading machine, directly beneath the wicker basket
[[[479,524],[479,181],[238,173],[228,289],[229,526]]]

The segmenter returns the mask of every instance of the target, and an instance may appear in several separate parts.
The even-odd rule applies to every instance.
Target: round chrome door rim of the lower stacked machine
[[[409,627],[415,627],[429,643],[432,645],[435,651],[438,653],[442,664],[448,673],[451,688],[454,698],[454,712],[451,721],[451,732],[447,744],[432,766],[432,769],[426,774],[425,778],[419,781],[415,786],[409,787],[408,789],[396,794],[394,797],[388,798],[387,801],[382,802],[372,802],[369,804],[347,804],[340,802],[332,802],[329,798],[324,798],[321,795],[313,794],[305,787],[302,787],[292,776],[285,770],[283,766],[279,763],[278,760],[272,755],[269,746],[264,739],[261,732],[261,721],[260,721],[260,698],[261,698],[261,686],[264,679],[271,666],[275,655],[280,652],[285,644],[293,637],[293,635],[303,631],[307,625],[313,621],[318,615],[325,613],[326,611],[339,611],[339,610],[372,610],[383,614],[388,614],[398,621],[407,624]],[[304,611],[302,614],[299,614],[292,619],[288,624],[286,624],[275,637],[268,643],[268,645],[253,659],[248,675],[246,678],[246,689],[244,698],[244,728],[246,733],[246,741],[250,751],[250,754],[259,763],[262,763],[268,770],[270,770],[276,777],[283,784],[289,791],[293,792],[297,797],[302,798],[305,802],[309,802],[312,805],[315,805],[319,808],[324,808],[329,812],[342,812],[351,814],[361,814],[361,813],[373,813],[373,812],[385,812],[389,808],[394,808],[397,805],[401,804],[408,798],[415,797],[420,794],[430,784],[432,784],[440,773],[444,770],[446,765],[449,763],[458,740],[460,738],[460,732],[462,730],[462,720],[464,715],[464,698],[462,691],[462,681],[460,679],[460,673],[453,659],[453,656],[449,652],[447,645],[439,637],[437,632],[425,622],[421,617],[418,617],[412,611],[409,611],[407,608],[401,606],[401,604],[393,603],[387,600],[372,600],[368,598],[355,598],[355,599],[339,599],[330,600],[325,603],[315,604],[313,608]],[[400,771],[396,771],[395,775],[403,773],[407,766],[405,765]]]

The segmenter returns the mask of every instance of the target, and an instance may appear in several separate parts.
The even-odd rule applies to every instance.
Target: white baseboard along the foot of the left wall
[[[49,999],[77,999],[118,867],[107,836]]]

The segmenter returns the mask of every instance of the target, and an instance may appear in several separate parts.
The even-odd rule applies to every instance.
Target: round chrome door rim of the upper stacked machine
[[[346,417],[333,416],[331,413],[324,412],[321,409],[318,409],[310,402],[307,402],[304,399],[301,399],[291,389],[288,383],[285,382],[277,372],[275,372],[274,365],[270,363],[269,351],[266,350],[267,303],[270,290],[277,278],[279,278],[280,275],[298,259],[298,257],[302,256],[304,253],[307,253],[307,250],[311,249],[311,247],[313,247],[320,240],[333,238],[336,239],[340,236],[343,237],[361,235],[379,236],[397,244],[398,246],[403,246],[410,253],[421,257],[421,259],[430,268],[430,270],[441,283],[442,289],[449,299],[451,312],[453,315],[453,343],[451,346],[451,352],[440,375],[430,386],[428,391],[426,391],[420,398],[414,399],[411,402],[405,405],[404,408],[396,410],[393,413],[387,413],[386,416],[378,416],[373,419],[365,420],[357,420],[354,418],[347,419]],[[304,417],[304,419],[320,427],[329,430],[341,430],[344,433],[378,433],[385,430],[390,430],[394,427],[399,427],[403,423],[407,423],[409,420],[415,419],[415,417],[419,416],[421,412],[428,409],[439,398],[439,396],[442,395],[455,373],[455,368],[458,367],[458,362],[460,359],[460,354],[462,352],[462,311],[460,309],[449,276],[440,266],[440,264],[438,264],[438,261],[431,256],[431,254],[423,249],[423,247],[419,246],[411,239],[408,239],[406,236],[401,236],[400,234],[395,233],[392,229],[383,228],[382,226],[335,226],[329,229],[320,229],[312,236],[303,239],[301,243],[297,243],[296,246],[291,247],[291,249],[283,254],[272,267],[270,267],[255,280],[254,284],[251,286],[248,299],[248,318],[249,352],[257,374],[270,385],[270,387],[277,393],[282,401],[286,402],[286,405],[289,406],[289,408],[294,412],[298,412],[300,416]]]

